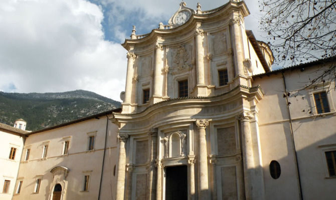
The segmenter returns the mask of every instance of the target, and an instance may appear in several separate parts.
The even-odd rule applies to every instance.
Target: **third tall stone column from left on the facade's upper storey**
[[[203,29],[196,29],[196,66],[197,84],[204,85],[204,48],[203,48]]]

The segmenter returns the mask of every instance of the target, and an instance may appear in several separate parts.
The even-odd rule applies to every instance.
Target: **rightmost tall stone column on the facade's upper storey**
[[[243,37],[241,32],[241,21],[238,16],[234,16],[230,21],[232,27],[232,35],[233,35],[233,50],[236,61],[236,76],[244,75],[244,46],[243,46]]]

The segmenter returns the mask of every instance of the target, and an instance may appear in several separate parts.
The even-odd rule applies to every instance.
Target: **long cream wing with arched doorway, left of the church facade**
[[[115,198],[113,111],[120,109],[28,133],[13,199]]]

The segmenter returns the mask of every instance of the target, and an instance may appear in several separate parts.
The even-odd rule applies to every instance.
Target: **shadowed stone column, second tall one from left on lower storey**
[[[149,154],[149,171],[148,171],[148,199],[154,200],[156,194],[156,167],[155,158],[157,152],[157,128],[151,128],[149,130],[149,141],[150,141],[150,154]]]

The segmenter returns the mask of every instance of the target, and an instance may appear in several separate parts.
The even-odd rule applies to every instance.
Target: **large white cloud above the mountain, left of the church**
[[[120,100],[126,50],[104,40],[102,20],[85,0],[0,2],[0,89],[87,89]]]

